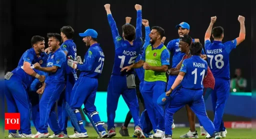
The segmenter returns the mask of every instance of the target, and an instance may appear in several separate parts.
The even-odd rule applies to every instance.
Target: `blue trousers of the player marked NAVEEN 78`
[[[214,114],[213,124],[220,131],[225,131],[222,116],[224,113],[225,103],[229,96],[230,80],[215,78],[215,86],[211,93],[212,109]]]

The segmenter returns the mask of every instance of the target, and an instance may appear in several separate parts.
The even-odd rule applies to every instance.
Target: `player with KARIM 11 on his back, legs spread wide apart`
[[[170,111],[169,117],[173,118],[173,114],[177,110],[182,108],[185,104],[188,104],[201,121],[206,131],[211,134],[214,139],[220,138],[213,123],[206,114],[202,96],[202,80],[207,74],[207,62],[200,57],[202,45],[200,42],[194,42],[190,45],[189,49],[192,56],[183,60],[177,78],[165,94],[168,96],[176,87],[180,88],[180,90],[176,90],[178,91],[177,93],[172,95],[172,99],[166,109]],[[179,85],[180,83],[181,85]],[[172,119],[170,119],[170,121],[172,121]],[[165,138],[171,139],[171,137],[172,131],[165,132]]]

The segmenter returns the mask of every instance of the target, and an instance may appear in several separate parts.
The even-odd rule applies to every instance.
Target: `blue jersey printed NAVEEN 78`
[[[236,39],[225,43],[206,40],[204,46],[213,76],[230,79],[229,53],[236,47]]]

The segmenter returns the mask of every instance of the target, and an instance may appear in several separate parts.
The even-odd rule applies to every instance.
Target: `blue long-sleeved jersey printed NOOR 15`
[[[115,47],[114,55],[114,65],[112,74],[114,75],[124,75],[133,73],[133,69],[128,73],[126,71],[121,72],[121,68],[131,65],[135,62],[136,57],[139,54],[140,48],[142,46],[142,15],[141,10],[137,10],[137,19],[136,19],[136,33],[135,39],[133,40],[133,45],[131,45],[127,40],[124,40],[118,33],[115,21],[112,17],[112,14],[107,14],[108,23],[111,27],[112,37]]]

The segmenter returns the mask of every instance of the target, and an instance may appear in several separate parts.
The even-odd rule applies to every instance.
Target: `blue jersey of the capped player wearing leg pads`
[[[104,53],[98,43],[92,44],[84,55],[83,64],[77,64],[81,76],[98,78],[104,64]]]

